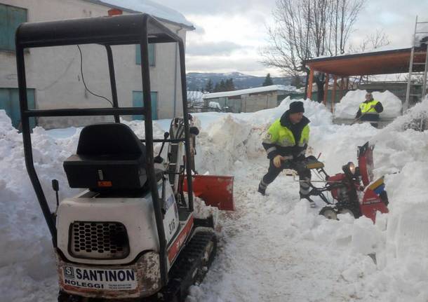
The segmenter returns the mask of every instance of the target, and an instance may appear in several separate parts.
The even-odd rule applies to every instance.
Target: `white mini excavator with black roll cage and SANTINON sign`
[[[58,301],[184,301],[190,285],[201,282],[210,267],[217,240],[212,216],[194,218],[182,39],[146,14],[29,22],[18,27],[15,37],[25,163],[52,236],[58,264]],[[184,116],[182,135],[172,139],[167,133],[163,139],[153,139],[149,43],[178,43],[180,50]],[[69,100],[67,108],[28,109],[27,49],[77,44],[105,47],[112,107],[100,108],[98,103],[73,108]],[[140,107],[119,107],[116,93],[112,47],[123,49],[129,44],[137,44],[141,50],[144,97]],[[120,116],[132,115],[144,116],[145,139],[138,139],[131,128],[120,123]],[[81,130],[76,154],[63,165],[69,186],[82,191],[60,201],[58,181],[53,179],[57,193],[54,212],[34,169],[29,118],[38,116],[114,118],[114,123],[87,125]],[[165,143],[183,146],[185,159],[180,163],[180,173],[156,169],[154,163],[162,163],[163,158],[160,153],[154,157],[154,142],[161,142],[162,148]],[[171,186],[180,176],[187,180],[184,203],[177,202],[178,186]]]

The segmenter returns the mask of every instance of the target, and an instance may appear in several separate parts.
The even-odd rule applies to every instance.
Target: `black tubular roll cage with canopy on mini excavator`
[[[182,89],[182,111],[185,126],[183,139],[153,139],[152,102],[150,97],[149,76],[149,43],[178,43],[180,55],[180,78]],[[51,22],[23,23],[18,27],[15,36],[16,62],[18,69],[18,88],[20,96],[20,111],[22,121],[22,136],[24,144],[25,165],[32,181],[36,197],[44,213],[46,223],[51,232],[53,247],[57,247],[57,229],[55,219],[49,209],[41,187],[39,177],[34,169],[32,156],[32,141],[29,118],[47,116],[114,116],[119,123],[121,115],[143,115],[145,117],[145,168],[149,181],[149,188],[154,203],[157,235],[160,245],[161,282],[168,280],[166,238],[163,229],[163,217],[159,193],[156,187],[154,171],[154,142],[185,142],[187,167],[191,167],[189,149],[189,121],[187,114],[187,90],[185,74],[185,47],[182,39],[170,29],[163,26],[158,20],[147,14],[117,15],[114,17],[83,18],[59,20]],[[25,50],[27,48],[41,48],[49,46],[72,46],[79,44],[99,44],[105,47],[109,66],[109,78],[112,92],[111,108],[86,109],[29,109],[27,102],[27,83],[25,76]],[[112,47],[116,45],[140,45],[141,74],[142,74],[142,107],[119,107],[114,74]],[[186,171],[187,191],[189,191],[189,212],[193,212],[192,174],[191,169]]]

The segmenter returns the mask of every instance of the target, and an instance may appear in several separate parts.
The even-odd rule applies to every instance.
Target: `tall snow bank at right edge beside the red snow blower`
[[[358,289],[355,296],[364,301],[371,297],[381,301],[427,301],[428,238],[424,226],[427,225],[428,190],[424,179],[428,173],[428,133],[406,128],[415,116],[427,116],[427,108],[425,100],[387,128],[375,130],[370,138],[370,142],[376,143],[375,177],[386,174],[390,201],[390,213],[378,215],[375,225],[364,217],[354,222],[349,219],[320,222],[300,207],[288,213],[288,234],[295,240],[313,238],[321,245],[347,249],[348,258],[343,260],[349,268],[342,271],[342,277],[354,282]],[[356,135],[352,131],[355,125],[341,128],[355,135],[352,139],[357,142],[361,142],[361,134],[368,134],[358,127],[361,134]],[[369,130],[373,132],[373,128]],[[331,146],[329,136],[324,135],[323,139]],[[337,141],[341,145],[352,144],[341,132],[335,132],[335,137],[340,138]],[[321,146],[316,144],[315,148]],[[333,154],[338,155],[336,160],[342,157],[341,152],[335,152],[335,149],[345,150],[341,145],[328,147],[331,151],[326,152],[327,163],[333,160],[330,159]],[[376,262],[363,255],[374,255]]]

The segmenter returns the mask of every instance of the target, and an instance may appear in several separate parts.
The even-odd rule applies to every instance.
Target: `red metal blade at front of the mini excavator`
[[[234,177],[218,175],[193,175],[193,193],[206,205],[219,210],[234,211]],[[187,179],[183,184],[187,192]]]

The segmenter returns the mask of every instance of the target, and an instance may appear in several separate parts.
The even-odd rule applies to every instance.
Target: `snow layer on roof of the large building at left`
[[[166,22],[173,22],[179,25],[184,25],[188,29],[194,29],[191,22],[187,21],[182,13],[174,11],[172,8],[168,8],[161,4],[157,4],[150,0],[85,0],[93,2],[95,4],[102,4],[107,6],[114,6],[116,8],[125,8],[128,11],[138,13],[148,13],[156,18],[164,20]]]

